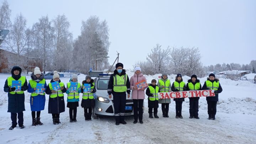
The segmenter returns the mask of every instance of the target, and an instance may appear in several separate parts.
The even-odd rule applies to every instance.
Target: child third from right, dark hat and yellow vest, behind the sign
[[[186,91],[186,84],[182,79],[181,74],[177,74],[175,81],[172,83],[171,87],[172,91]],[[182,110],[182,102],[185,101],[185,98],[174,98],[175,101],[175,109],[176,109],[176,117],[175,118],[183,118],[181,115]]]

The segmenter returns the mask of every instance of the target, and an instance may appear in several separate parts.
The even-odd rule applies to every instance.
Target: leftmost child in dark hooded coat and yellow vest
[[[11,113],[12,126],[10,130],[14,129],[17,124],[19,127],[25,128],[23,125],[23,111],[25,111],[25,95],[24,91],[28,89],[27,80],[25,76],[21,76],[21,68],[14,66],[11,70],[11,75],[5,81],[4,91],[8,92],[8,111]],[[12,87],[12,81],[21,81],[21,91],[15,92],[16,88]],[[18,113],[18,123],[17,123]]]

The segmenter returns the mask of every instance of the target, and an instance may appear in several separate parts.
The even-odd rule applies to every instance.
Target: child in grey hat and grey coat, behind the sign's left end
[[[158,87],[160,89],[160,92],[171,92],[171,82],[168,80],[167,74],[163,73],[161,76],[161,79],[158,80]],[[169,117],[169,103],[171,103],[170,98],[160,99],[158,101],[161,103],[162,107],[162,115],[163,117]]]

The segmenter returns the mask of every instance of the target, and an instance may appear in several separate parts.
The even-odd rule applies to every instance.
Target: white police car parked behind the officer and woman
[[[96,92],[94,93],[95,106],[92,109],[93,118],[97,118],[97,116],[114,116],[113,95],[109,98],[107,93],[110,75],[111,74],[99,74],[99,76],[94,79]],[[130,95],[130,98],[126,95],[125,109],[125,115],[133,115],[132,95]]]

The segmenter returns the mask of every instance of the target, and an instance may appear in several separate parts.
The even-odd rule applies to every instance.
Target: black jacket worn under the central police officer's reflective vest
[[[122,73],[119,75],[117,70],[114,70],[114,73],[110,76],[110,80],[108,81],[108,95],[111,95],[114,91],[113,91],[113,83],[114,83],[114,76],[115,75],[119,75],[119,76],[122,76],[122,75],[125,75],[126,72],[125,70],[123,69]],[[129,77],[127,76],[127,80],[126,80],[126,87],[127,87],[127,94],[130,94],[130,80],[129,80]]]

